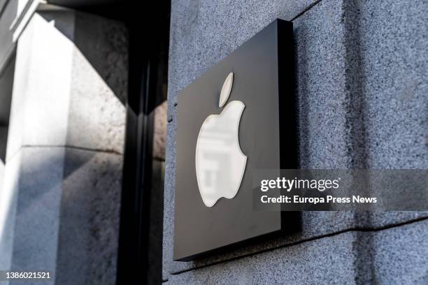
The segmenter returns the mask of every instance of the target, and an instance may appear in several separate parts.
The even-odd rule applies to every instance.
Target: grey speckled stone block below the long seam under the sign
[[[403,238],[403,237],[406,238]],[[168,284],[426,284],[428,221],[349,231],[170,275]]]

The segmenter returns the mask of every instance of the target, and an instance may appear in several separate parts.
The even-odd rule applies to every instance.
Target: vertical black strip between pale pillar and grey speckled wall
[[[152,111],[162,96],[157,86],[166,80],[159,78],[158,66],[167,62],[170,2],[128,4],[129,94],[116,284],[147,284]]]

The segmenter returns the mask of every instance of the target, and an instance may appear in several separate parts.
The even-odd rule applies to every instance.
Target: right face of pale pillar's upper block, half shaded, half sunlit
[[[86,13],[76,13],[74,25],[66,144],[123,153],[127,30]]]

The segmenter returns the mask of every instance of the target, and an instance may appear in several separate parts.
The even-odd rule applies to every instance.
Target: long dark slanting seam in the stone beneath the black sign
[[[230,262],[230,261],[236,261],[236,260],[241,259],[241,258],[255,256],[257,254],[263,254],[265,252],[274,251],[276,249],[282,249],[282,248],[285,248],[285,247],[292,247],[294,245],[304,244],[305,242],[312,242],[313,240],[320,240],[322,238],[330,238],[330,237],[333,237],[335,235],[341,235],[343,233],[351,233],[351,232],[379,232],[379,231],[388,230],[390,228],[398,228],[400,226],[406,226],[408,224],[418,223],[420,221],[427,221],[427,220],[428,220],[428,217],[421,217],[421,218],[418,218],[418,219],[413,219],[411,221],[404,221],[404,222],[397,223],[397,224],[389,224],[389,225],[385,225],[385,226],[380,226],[378,228],[348,228],[348,229],[345,229],[345,230],[342,230],[342,231],[337,231],[337,232],[334,232],[334,233],[328,233],[328,234],[325,234],[325,235],[318,235],[318,236],[313,237],[313,238],[307,238],[306,240],[299,240],[297,242],[290,242],[289,244],[283,244],[283,245],[280,245],[278,247],[271,247],[269,249],[263,249],[263,250],[260,250],[260,251],[255,251],[255,252],[252,252],[250,254],[243,254],[241,256],[236,256],[236,257],[233,257],[233,258],[224,259],[222,261],[216,261],[216,262],[209,263],[209,264],[206,264],[206,265],[201,265],[201,266],[198,266],[198,267],[195,267],[195,268],[189,268],[189,269],[186,269],[186,270],[180,270],[180,271],[177,271],[177,272],[171,272],[170,275],[179,275],[181,273],[190,272],[190,271],[193,271],[193,270],[199,270],[199,269],[202,269],[202,268],[206,268],[206,267],[213,266],[213,265],[218,265],[218,264],[221,264],[221,263],[227,263],[227,262]]]

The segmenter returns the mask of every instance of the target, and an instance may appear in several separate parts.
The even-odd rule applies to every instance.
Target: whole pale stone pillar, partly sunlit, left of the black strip
[[[17,44],[2,269],[115,284],[126,93],[123,24],[64,9],[31,17]]]

